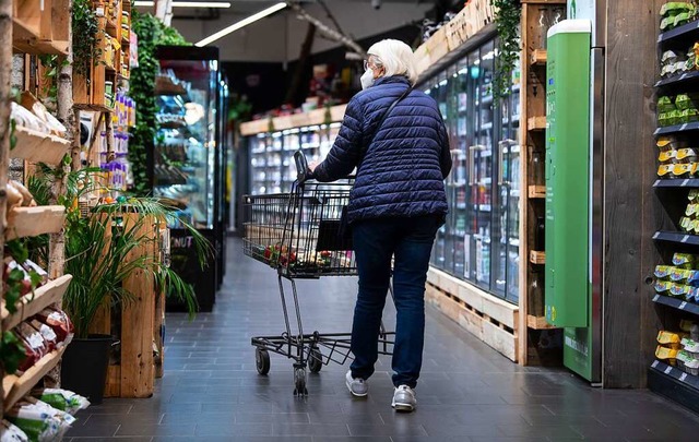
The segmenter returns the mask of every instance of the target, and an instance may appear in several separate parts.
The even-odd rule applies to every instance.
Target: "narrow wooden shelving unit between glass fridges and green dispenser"
[[[520,328],[518,361],[521,365],[541,365],[549,359],[546,351],[537,347],[540,336],[553,328],[544,318],[544,265],[545,250],[536,250],[537,229],[545,216],[546,186],[544,174],[534,170],[534,155],[543,162],[546,148],[546,49],[541,47],[546,29],[540,26],[540,10],[543,8],[565,7],[565,0],[522,0],[522,79],[525,91],[522,92],[520,118],[522,124],[520,139],[526,145],[526,157],[522,158],[521,183],[528,190],[526,201],[520,206]],[[541,168],[540,166],[536,166]],[[540,230],[537,232],[537,230]],[[541,244],[538,244],[541,248]]]

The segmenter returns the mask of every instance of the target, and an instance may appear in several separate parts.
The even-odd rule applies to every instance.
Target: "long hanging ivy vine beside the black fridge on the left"
[[[135,128],[131,129],[129,162],[133,171],[133,193],[140,196],[151,192],[147,170],[147,152],[154,148],[155,114],[157,104],[153,91],[158,61],[155,47],[159,45],[189,45],[176,29],[165,26],[151,14],[133,11],[132,29],[139,37],[139,67],[131,70],[129,95],[135,101]]]

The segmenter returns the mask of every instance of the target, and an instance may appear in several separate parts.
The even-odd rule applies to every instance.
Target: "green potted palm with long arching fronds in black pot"
[[[123,282],[137,271],[150,273],[155,284],[168,287],[168,296],[183,300],[193,314],[197,309],[193,288],[177,273],[159,260],[130,256],[137,248],[156,241],[146,227],[154,219],[171,220],[173,212],[154,199],[129,198],[82,213],[78,202],[98,189],[96,176],[99,172],[96,168],[69,172],[64,177],[66,193],[58,198],[58,203],[66,206],[64,272],[73,276],[63,296],[63,309],[73,321],[75,336],[87,337],[103,306],[110,303],[114,307],[133,299]],[[51,181],[61,179],[61,174],[43,166],[37,179],[44,180],[44,189],[50,189]],[[204,265],[211,246],[193,227],[186,227],[194,238],[200,263]]]

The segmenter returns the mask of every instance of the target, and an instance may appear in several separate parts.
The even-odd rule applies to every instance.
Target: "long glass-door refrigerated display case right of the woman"
[[[453,160],[433,265],[517,303],[520,84],[516,71],[510,94],[496,103],[496,56],[491,39],[418,85],[439,105]]]

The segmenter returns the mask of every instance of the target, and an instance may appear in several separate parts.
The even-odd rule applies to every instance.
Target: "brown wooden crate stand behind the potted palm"
[[[122,214],[125,226],[133,223],[135,214]],[[129,259],[145,255],[149,260],[159,260],[159,224],[153,219],[145,223],[138,235],[147,240],[134,249]],[[105,306],[91,328],[91,333],[114,335],[120,342],[120,357],[110,362],[107,371],[105,397],[151,397],[156,377],[154,343],[162,336],[162,321],[156,318],[164,314],[162,290],[156,291],[153,276],[143,270],[137,270],[123,284],[134,295],[134,299],[121,306],[120,314],[115,314]],[[156,310],[156,306],[159,311]],[[114,319],[118,318],[119,323]],[[159,351],[162,357],[163,351]],[[162,366],[162,359],[159,361]]]

